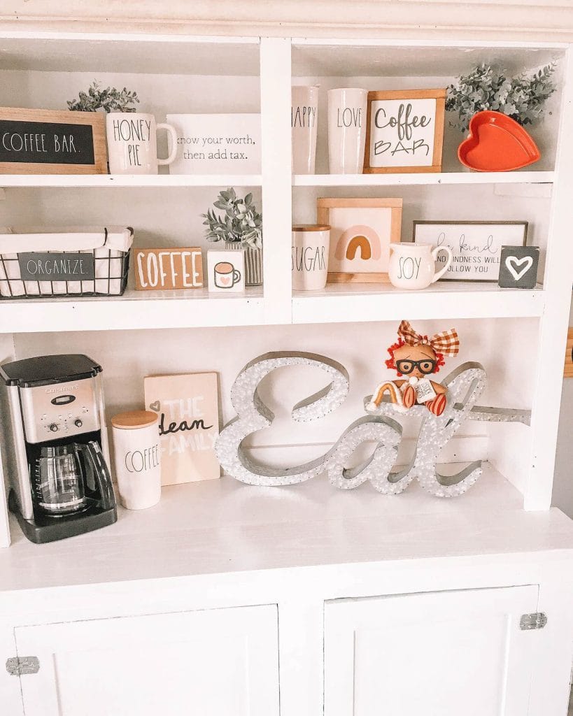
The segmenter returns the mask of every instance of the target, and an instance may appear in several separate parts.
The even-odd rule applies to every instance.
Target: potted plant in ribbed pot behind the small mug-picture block
[[[205,219],[203,225],[208,227],[207,241],[224,241],[225,248],[244,248],[245,284],[260,286],[263,282],[263,217],[256,210],[253,195],[239,198],[231,187],[219,192],[213,206],[223,213],[217,215],[208,209],[206,214],[201,214]]]

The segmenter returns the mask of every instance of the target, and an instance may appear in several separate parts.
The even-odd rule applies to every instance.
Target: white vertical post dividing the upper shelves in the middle
[[[261,39],[263,269],[266,322],[292,320],[291,41]]]

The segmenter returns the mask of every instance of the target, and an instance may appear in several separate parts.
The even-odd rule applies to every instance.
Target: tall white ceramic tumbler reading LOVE
[[[328,159],[331,174],[362,174],[366,140],[366,89],[328,92]]]

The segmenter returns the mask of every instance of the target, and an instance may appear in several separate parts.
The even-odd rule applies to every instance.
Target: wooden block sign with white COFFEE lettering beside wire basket
[[[136,248],[134,261],[138,291],[203,286],[201,248]]]

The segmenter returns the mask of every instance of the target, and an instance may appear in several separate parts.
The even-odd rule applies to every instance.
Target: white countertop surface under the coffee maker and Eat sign
[[[367,483],[337,490],[324,476],[281,488],[221,478],[163,488],[155,507],[120,508],[115,525],[60,542],[30,543],[13,516],[11,533],[0,591],[573,548],[567,517],[526,513],[521,493],[488,464],[458,498],[433,498],[418,483],[390,497]]]

